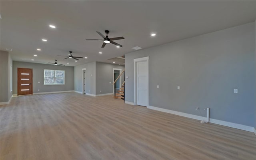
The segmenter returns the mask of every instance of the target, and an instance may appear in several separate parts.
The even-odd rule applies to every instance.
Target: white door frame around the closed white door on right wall
[[[146,68],[146,72],[147,72],[147,76],[148,76],[148,59],[149,59],[149,57],[147,56],[147,57],[142,57],[142,58],[136,58],[136,59],[134,59],[133,60],[133,63],[134,63],[134,106],[136,106],[137,105],[137,63],[138,62],[146,62],[146,66],[147,66],[147,68]],[[148,78],[149,78],[149,76],[148,76]],[[146,80],[146,85],[148,86],[148,92],[149,92],[149,83],[148,83],[148,78],[147,78],[147,80]],[[148,107],[148,105],[149,105],[149,93],[147,92],[147,98],[148,98],[148,100],[147,100],[147,102],[146,102],[146,107]]]

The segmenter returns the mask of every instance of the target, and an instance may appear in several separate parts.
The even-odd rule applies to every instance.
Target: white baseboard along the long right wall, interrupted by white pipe
[[[148,106],[148,108],[152,109],[152,110],[158,110],[158,111],[161,111],[161,112],[175,114],[175,115],[178,115],[178,116],[183,116],[183,117],[192,118],[192,119],[196,119],[196,120],[206,120],[206,117],[203,117],[203,116],[196,116],[196,115],[193,115],[193,114],[177,112],[177,111],[174,111],[174,110],[168,110],[168,109],[154,107],[154,106]],[[228,126],[228,127],[236,128],[236,129],[240,129],[240,130],[246,130],[246,131],[249,131],[249,132],[255,132],[254,127],[246,126],[246,125],[242,125],[242,124],[236,124],[236,123],[232,123],[232,122],[226,122],[226,121],[223,121],[223,120],[216,120],[216,119],[210,118],[210,123],[219,124],[219,125],[222,125],[222,126]]]

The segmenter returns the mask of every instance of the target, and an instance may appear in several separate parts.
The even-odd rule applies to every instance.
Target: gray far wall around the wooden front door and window
[[[17,68],[33,69],[33,93],[74,90],[74,67],[55,66],[51,64],[38,64],[38,63],[17,62],[17,61],[13,61],[12,66],[13,66],[12,67],[13,68],[12,70],[13,94],[17,94]],[[44,69],[65,70],[65,84],[64,85],[44,85]],[[38,89],[40,91],[38,91]]]

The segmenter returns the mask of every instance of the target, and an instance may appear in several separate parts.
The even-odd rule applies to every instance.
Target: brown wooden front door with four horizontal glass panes
[[[33,94],[33,69],[18,68],[18,95]]]

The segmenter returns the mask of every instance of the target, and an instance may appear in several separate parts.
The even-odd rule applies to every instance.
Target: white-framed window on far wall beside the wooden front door
[[[65,71],[44,70],[44,84],[65,84]]]

